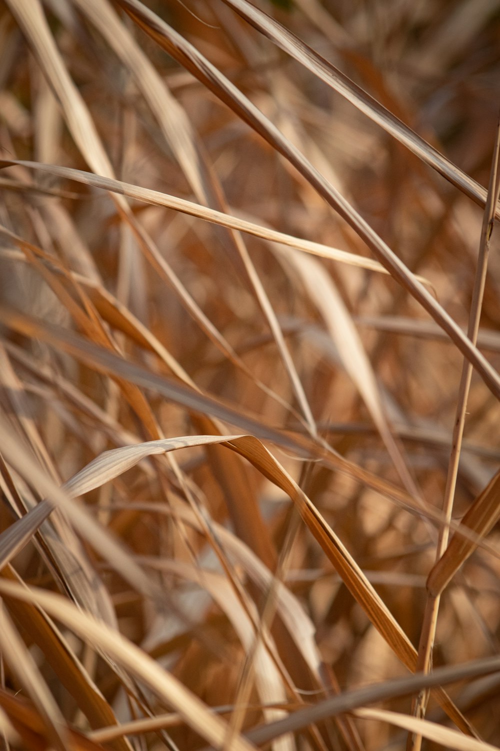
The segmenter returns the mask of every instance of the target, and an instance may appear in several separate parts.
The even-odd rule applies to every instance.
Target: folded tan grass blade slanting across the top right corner
[[[384,128],[385,131],[399,140],[400,143],[403,143],[413,154],[417,155],[418,158],[448,179],[452,185],[456,185],[469,198],[472,198],[475,203],[480,206],[486,204],[487,192],[482,185],[478,185],[478,182],[473,180],[463,170],[460,170],[460,167],[457,167],[456,164],[453,164],[453,162],[431,146],[430,143],[427,143],[412,128],[401,122],[399,118],[365,92],[364,89],[361,89],[361,86],[350,80],[349,77],[332,65],[331,62],[328,62],[328,60],[325,60],[325,58],[308,47],[307,44],[304,44],[289,29],[286,29],[277,20],[264,11],[261,11],[256,5],[247,2],[247,0],[223,0],[223,2],[229,5],[230,8],[233,8],[236,13],[274,44],[277,44],[278,47],[298,60],[298,62],[301,62],[302,65],[321,78],[322,81],[325,81],[328,86],[339,92],[347,101],[358,107],[358,110]],[[497,207],[496,213],[500,219],[500,207]]]

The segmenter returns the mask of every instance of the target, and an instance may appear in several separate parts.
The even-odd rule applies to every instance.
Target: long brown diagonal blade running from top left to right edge
[[[432,295],[415,279],[412,272],[400,261],[400,258],[373,231],[332,185],[304,158],[304,155],[292,145],[280,131],[265,118],[241,92],[229,82],[214,65],[211,65],[193,45],[187,43],[159,17],[145,8],[139,0],[118,0],[119,5],[133,17],[133,20],[172,57],[181,62],[194,76],[221,98],[228,107],[254,128],[271,146],[288,159],[298,171],[310,182],[310,185],[333,207],[340,216],[367,243],[376,258],[391,273],[391,276],[409,291],[415,300],[424,307],[434,320],[448,333],[463,355],[478,370],[481,378],[497,398],[500,397],[500,377],[490,363],[478,353],[457,323],[436,303]]]

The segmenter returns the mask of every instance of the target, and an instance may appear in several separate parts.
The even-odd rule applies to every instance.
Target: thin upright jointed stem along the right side
[[[486,282],[488,255],[490,252],[490,238],[495,221],[495,207],[499,198],[499,154],[500,154],[500,119],[497,123],[495,147],[493,149],[493,161],[490,172],[490,186],[488,189],[487,204],[484,209],[483,225],[481,228],[481,241],[479,245],[478,267],[475,276],[474,291],[472,294],[471,312],[469,315],[469,327],[467,336],[475,345],[478,341],[479,323],[481,321],[481,308],[483,305],[484,286]],[[439,530],[438,544],[436,547],[436,561],[438,561],[448,546],[450,534],[451,512],[453,510],[455,488],[457,487],[458,466],[460,463],[460,451],[463,441],[463,430],[466,422],[467,400],[472,379],[472,365],[464,358],[460,387],[457,399],[457,412],[454,423],[453,439],[451,444],[448,476],[446,478],[445,497],[443,500],[443,514],[445,522]],[[432,669],[433,646],[436,637],[436,626],[439,614],[439,602],[441,595],[427,593],[427,603],[422,623],[421,638],[418,645],[417,671],[428,673]],[[421,691],[414,699],[412,713],[420,718],[425,716],[429,692]],[[422,736],[409,734],[408,751],[420,751]]]

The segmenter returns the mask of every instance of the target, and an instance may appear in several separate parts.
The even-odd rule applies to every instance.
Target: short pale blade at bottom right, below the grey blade
[[[403,730],[408,730],[411,733],[418,733],[427,738],[427,740],[433,740],[434,743],[439,743],[448,749],[457,749],[457,751],[498,751],[498,746],[492,746],[484,740],[469,738],[457,730],[436,725],[436,722],[409,717],[399,712],[389,712],[382,709],[358,709],[355,710],[355,716],[364,719],[377,719],[381,722],[390,722],[391,725],[396,725],[398,728],[403,728]]]

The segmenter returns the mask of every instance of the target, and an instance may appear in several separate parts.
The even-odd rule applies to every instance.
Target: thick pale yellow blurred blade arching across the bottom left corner
[[[223,746],[226,722],[211,713],[205,704],[189,692],[168,671],[160,667],[145,652],[121,634],[112,631],[60,596],[42,590],[27,590],[7,581],[0,581],[0,591],[25,602],[40,605],[56,620],[61,620],[84,641],[99,647],[118,662],[137,680],[142,681],[161,701],[166,701],[199,733],[216,748]],[[254,746],[241,736],[233,738],[235,751],[251,751]]]

